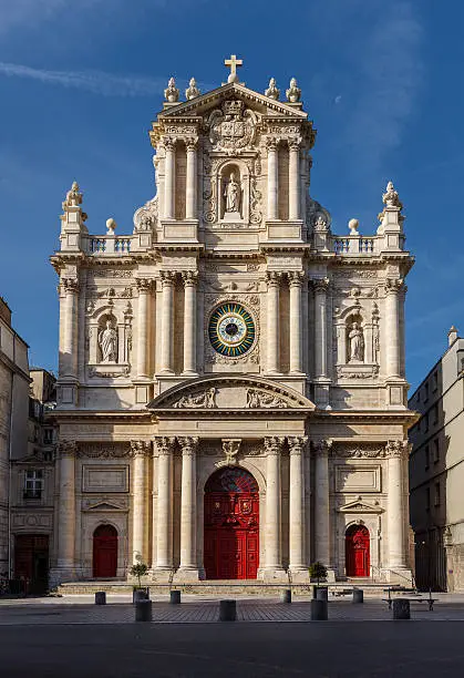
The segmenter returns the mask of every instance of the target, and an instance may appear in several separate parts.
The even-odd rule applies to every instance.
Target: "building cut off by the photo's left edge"
[[[28,345],[0,297],[0,577],[11,576],[10,460],[28,450],[29,384]]]

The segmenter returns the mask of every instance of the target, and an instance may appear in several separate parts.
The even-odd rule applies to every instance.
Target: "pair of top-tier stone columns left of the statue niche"
[[[197,217],[197,137],[185,138],[187,151],[187,170],[185,187],[185,218]],[[176,140],[166,137],[163,141],[165,148],[164,161],[164,217],[175,219],[176,210]]]

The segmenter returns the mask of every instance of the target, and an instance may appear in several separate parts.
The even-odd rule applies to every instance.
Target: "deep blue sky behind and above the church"
[[[373,233],[392,178],[405,206],[408,377],[464,335],[464,3],[460,0],[0,0],[0,295],[31,363],[56,367],[61,201],[76,178],[91,233],[132,232],[153,195],[147,130],[175,75],[203,90],[295,75],[318,129],[311,193],[337,233]]]

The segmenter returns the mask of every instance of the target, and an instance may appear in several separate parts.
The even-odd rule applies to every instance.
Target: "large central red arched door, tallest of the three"
[[[245,469],[214,473],[205,486],[207,579],[256,579],[259,565],[259,490]]]

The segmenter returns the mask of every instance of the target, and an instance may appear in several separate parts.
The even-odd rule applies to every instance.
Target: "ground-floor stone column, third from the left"
[[[174,438],[155,438],[158,454],[156,508],[156,569],[173,569],[173,450]]]

